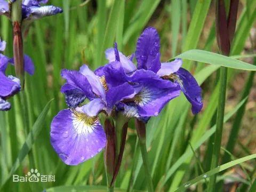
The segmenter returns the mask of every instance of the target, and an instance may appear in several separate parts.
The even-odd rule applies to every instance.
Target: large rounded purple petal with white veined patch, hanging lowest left
[[[51,124],[51,144],[68,165],[77,165],[97,155],[106,145],[98,117],[69,109],[61,110]]]

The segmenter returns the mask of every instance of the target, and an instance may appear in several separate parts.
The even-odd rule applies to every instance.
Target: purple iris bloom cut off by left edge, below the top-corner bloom
[[[4,51],[6,46],[5,41],[0,39],[0,51]],[[5,55],[0,53],[0,110],[6,111],[11,108],[11,104],[6,101],[8,98],[12,97],[14,94],[17,94],[20,89],[20,80],[11,75],[6,76],[5,71],[8,63],[13,62],[13,59],[9,59]],[[25,70],[30,74],[34,74],[34,64],[31,59],[26,55],[25,56]]]

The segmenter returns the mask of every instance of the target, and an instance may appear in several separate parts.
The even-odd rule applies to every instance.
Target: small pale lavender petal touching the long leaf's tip
[[[165,75],[170,75],[179,70],[182,66],[182,59],[175,59],[172,62],[161,63],[161,68],[157,71],[157,75],[163,77]]]

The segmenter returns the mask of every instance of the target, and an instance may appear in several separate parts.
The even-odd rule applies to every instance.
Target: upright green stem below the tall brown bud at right
[[[217,122],[216,122],[216,132],[214,136],[214,147],[213,147],[213,155],[211,162],[211,169],[214,169],[218,166],[219,156],[220,156],[220,147],[221,147],[221,138],[222,138],[222,130],[223,130],[223,117],[225,112],[225,101],[226,101],[226,86],[227,86],[227,68],[220,68],[220,95],[218,101],[218,111],[217,111]],[[208,190],[209,192],[213,192],[215,187],[217,175],[214,174],[209,181]]]

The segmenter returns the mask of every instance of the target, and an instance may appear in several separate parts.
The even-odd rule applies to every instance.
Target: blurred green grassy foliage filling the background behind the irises
[[[24,132],[21,95],[10,99],[12,110],[0,112],[1,190],[105,191],[103,153],[81,165],[67,166],[60,161],[50,145],[51,120],[59,110],[67,108],[60,93],[64,82],[60,77],[61,69],[78,69],[83,63],[91,69],[105,65],[107,61],[104,51],[113,46],[115,41],[119,50],[130,55],[135,51],[140,33],[150,25],[156,27],[161,36],[162,61],[191,49],[218,52],[215,42],[214,1],[52,0],[49,4],[63,7],[63,13],[34,22],[24,40],[25,53],[33,59],[36,67],[34,76],[26,76],[25,97],[28,101],[27,124],[30,135]],[[231,55],[242,58],[245,43],[253,42],[250,30],[255,24],[256,1],[240,1],[238,15]],[[0,35],[7,42],[5,54],[12,57],[11,22],[4,17],[0,21]],[[255,47],[253,44],[249,47],[250,50],[245,53],[253,54]],[[232,67],[232,63],[227,65]],[[191,115],[190,105],[182,95],[171,101],[158,117],[150,119],[147,125],[147,147],[156,191],[175,191],[179,187],[188,191],[204,191],[209,175],[222,171],[223,167],[227,169],[235,165],[231,160],[246,157],[246,161],[255,158],[248,156],[251,154],[250,149],[236,139],[243,125],[241,122],[246,111],[247,95],[252,89],[254,72],[246,71],[246,81],[241,82],[244,87],[241,92],[236,93],[239,99],[227,109],[225,116],[225,120],[234,125],[230,134],[225,136],[230,141],[228,146],[226,142],[222,146],[220,162],[230,163],[211,172],[212,135],[215,132],[215,111],[220,94],[219,66],[185,60],[183,67],[189,69],[199,84],[202,84],[204,109],[197,116]],[[241,70],[229,69],[228,85],[234,83],[240,72]],[[14,74],[14,69],[10,67],[8,73]],[[230,86],[228,89],[231,89]],[[46,106],[51,99],[54,100]],[[252,113],[255,118],[255,110]],[[134,122],[131,121],[116,181],[117,191],[147,189],[137,142]],[[236,153],[234,146],[241,148],[239,153]],[[237,169],[242,170],[245,175],[244,178],[235,178],[230,171],[222,171],[218,181],[230,179],[233,184],[241,183],[239,191],[249,188],[255,191],[255,161],[237,161],[236,164],[239,165],[236,166]],[[43,175],[54,174],[55,182],[12,182],[12,173],[25,175],[31,168]],[[207,171],[210,174],[204,174]],[[197,179],[196,182],[199,182],[196,185],[192,186],[193,183],[188,182],[201,174],[206,177]],[[219,188],[221,191],[221,187]]]

